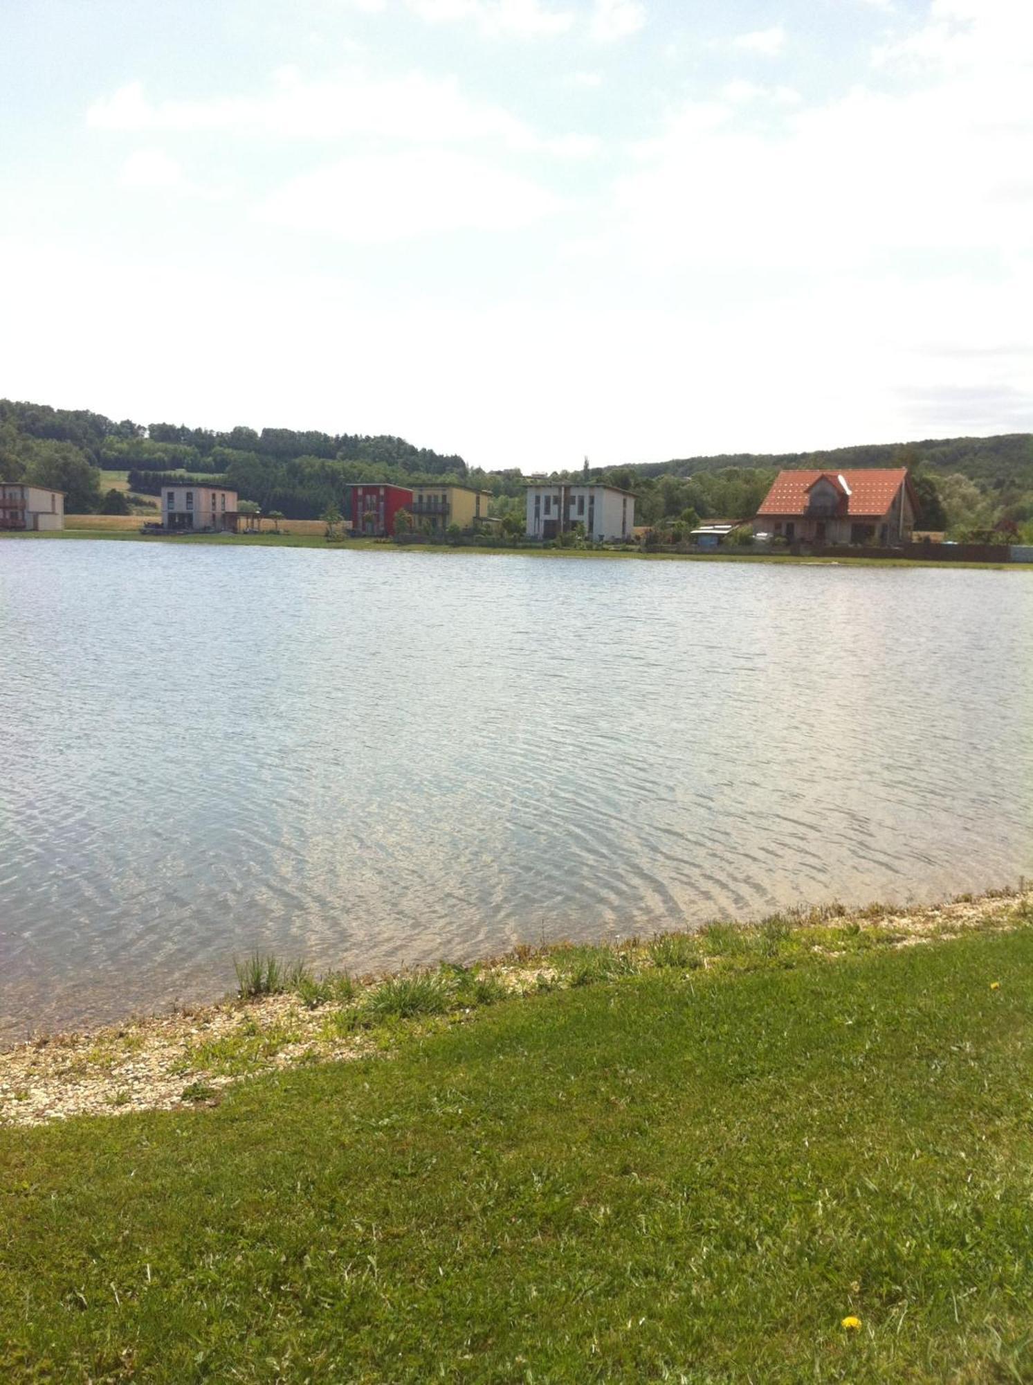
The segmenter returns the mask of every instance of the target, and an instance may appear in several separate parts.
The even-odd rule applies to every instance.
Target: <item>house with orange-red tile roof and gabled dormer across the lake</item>
[[[917,511],[907,467],[780,471],[757,510],[753,532],[789,543],[895,547],[911,539]]]

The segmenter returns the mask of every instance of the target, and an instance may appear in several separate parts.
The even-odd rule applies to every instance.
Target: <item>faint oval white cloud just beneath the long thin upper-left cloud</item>
[[[561,211],[547,188],[447,150],[357,155],[291,179],[260,220],[342,241],[385,244],[454,231],[521,230]]]

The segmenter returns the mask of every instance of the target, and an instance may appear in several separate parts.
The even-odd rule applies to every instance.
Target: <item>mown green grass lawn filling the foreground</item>
[[[669,961],[0,1130],[0,1378],[1033,1379],[1033,929]]]

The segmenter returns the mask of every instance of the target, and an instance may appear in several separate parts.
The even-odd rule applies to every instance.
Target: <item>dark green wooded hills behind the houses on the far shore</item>
[[[918,528],[951,536],[1007,532],[1033,542],[1033,435],[928,439],[860,445],[829,452],[683,457],[662,463],[553,472],[554,482],[620,486],[636,494],[640,525],[681,530],[701,519],[748,519],[782,468],[828,471],[906,465],[919,497]],[[402,438],[312,429],[137,424],[90,410],[0,400],[0,479],[33,481],[66,493],[69,514],[115,506],[101,471],[125,472],[141,496],[163,485],[226,485],[264,514],[313,519],[345,504],[357,482],[468,485],[492,494],[490,511],[515,525],[523,517],[528,478],[518,470],[468,467],[457,454],[417,447]]]

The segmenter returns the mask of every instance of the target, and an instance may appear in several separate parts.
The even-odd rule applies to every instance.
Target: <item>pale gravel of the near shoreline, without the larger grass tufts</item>
[[[835,957],[859,946],[906,947],[972,929],[1000,931],[1033,924],[1033,891],[1021,886],[900,910],[874,904],[847,911],[829,906],[781,915],[777,935],[770,932],[774,922],[737,927],[741,950],[730,949],[727,925],[665,936],[691,947],[688,964],[706,971],[731,967],[752,942],[763,943],[773,936],[791,936],[798,951]],[[583,965],[580,970],[571,967],[571,958],[583,958],[586,953],[597,957],[595,974],[589,975]],[[609,974],[607,957],[620,963]],[[440,985],[442,993],[451,985],[450,976],[476,979],[476,985],[490,989],[492,999],[501,999],[584,985],[589,983],[586,975],[608,979],[654,965],[670,965],[658,960],[655,940],[631,939],[595,949],[562,945],[519,949],[474,971],[443,968],[408,975],[438,978],[435,985]],[[299,993],[231,997],[169,1015],[18,1044],[0,1053],[0,1123],[32,1126],[78,1115],[215,1105],[227,1086],[258,1073],[389,1054],[399,1025],[407,1021],[396,1017],[385,1024],[368,1017],[374,1014],[371,1003],[378,992],[396,983],[397,978],[354,983],[354,993],[343,1004]],[[464,1004],[461,992],[457,994],[460,999],[447,1011],[415,1015],[411,1022],[450,1024],[469,1018],[472,1007]]]

